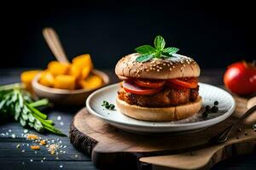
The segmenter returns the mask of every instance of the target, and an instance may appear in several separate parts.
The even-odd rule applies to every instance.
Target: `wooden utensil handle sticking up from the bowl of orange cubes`
[[[67,55],[61,45],[61,41],[53,28],[44,28],[43,35],[55,58],[61,63],[69,63]]]

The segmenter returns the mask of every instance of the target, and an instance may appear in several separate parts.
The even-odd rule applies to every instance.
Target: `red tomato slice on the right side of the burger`
[[[184,88],[196,88],[198,83],[195,77],[169,79],[168,82],[183,86]]]

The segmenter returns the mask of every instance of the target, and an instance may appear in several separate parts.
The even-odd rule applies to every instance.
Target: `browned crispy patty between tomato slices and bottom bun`
[[[146,107],[168,107],[183,105],[195,101],[198,96],[199,86],[197,88],[184,88],[177,90],[174,88],[163,88],[160,92],[150,95],[131,94],[120,88],[118,92],[119,99],[124,100],[130,105],[140,105]]]

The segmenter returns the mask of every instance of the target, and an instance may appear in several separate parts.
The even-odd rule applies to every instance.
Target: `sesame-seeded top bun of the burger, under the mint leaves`
[[[199,77],[200,67],[194,59],[180,54],[172,54],[166,59],[150,59],[137,62],[139,54],[129,54],[119,59],[115,73],[119,77],[148,79],[172,79],[181,77]]]

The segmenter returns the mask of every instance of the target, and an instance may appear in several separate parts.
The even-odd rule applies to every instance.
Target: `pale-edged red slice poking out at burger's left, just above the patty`
[[[137,84],[135,84],[131,81],[124,81],[123,88],[125,89],[125,92],[131,93],[131,94],[142,94],[142,95],[156,94],[161,89],[161,88],[139,87],[139,86],[137,86]]]

